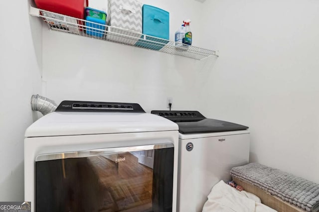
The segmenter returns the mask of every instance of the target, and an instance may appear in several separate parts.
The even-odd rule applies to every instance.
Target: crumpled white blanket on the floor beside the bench
[[[237,191],[224,181],[217,183],[208,195],[203,212],[276,212],[261,204],[260,199],[246,191]]]

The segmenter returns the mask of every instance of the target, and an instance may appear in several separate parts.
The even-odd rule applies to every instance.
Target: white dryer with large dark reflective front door
[[[62,102],[29,126],[32,212],[175,212],[178,126],[138,104]]]

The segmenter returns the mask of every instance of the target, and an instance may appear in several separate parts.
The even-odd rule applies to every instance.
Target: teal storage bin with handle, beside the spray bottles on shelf
[[[169,12],[156,6],[144,4],[142,7],[143,34],[169,39]],[[168,41],[146,36],[135,45],[139,47],[160,50]],[[143,38],[143,37],[142,37]]]

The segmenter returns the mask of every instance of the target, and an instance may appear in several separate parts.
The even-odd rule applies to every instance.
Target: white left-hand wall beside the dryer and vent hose
[[[41,94],[41,24],[29,3],[0,1],[0,201],[24,200],[24,131],[37,118],[31,95]]]

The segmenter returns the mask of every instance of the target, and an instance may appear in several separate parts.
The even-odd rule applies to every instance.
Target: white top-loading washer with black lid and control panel
[[[249,162],[247,126],[209,119],[198,111],[153,110],[179,127],[177,211],[201,212],[211,188]]]

